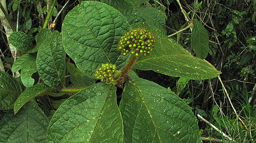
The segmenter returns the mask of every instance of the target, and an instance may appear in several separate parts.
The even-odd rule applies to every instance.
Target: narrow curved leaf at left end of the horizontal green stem
[[[39,83],[34,86],[31,86],[23,91],[20,96],[17,98],[14,104],[14,114],[16,114],[19,109],[25,105],[28,101],[37,97],[41,94],[45,94],[47,92],[54,92],[54,89],[50,88],[44,83]]]

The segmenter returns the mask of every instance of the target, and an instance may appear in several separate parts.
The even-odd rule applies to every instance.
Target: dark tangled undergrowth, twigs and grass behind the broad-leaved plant
[[[61,32],[65,15],[79,2],[79,0],[57,0],[48,26],[52,27],[52,30]],[[197,7],[200,2],[202,2],[200,7]],[[52,0],[6,1],[8,19],[6,21],[1,19],[0,28],[2,71],[17,76],[11,72],[11,66],[16,57],[23,54],[9,49],[6,38],[8,31],[3,29],[4,23],[11,23],[9,29],[25,32],[34,42],[38,31],[43,27],[51,3]],[[166,35],[186,27],[188,20],[198,19],[209,35],[210,50],[205,59],[222,72],[220,75],[222,80],[215,78],[178,81],[179,78],[153,71],[137,71],[139,77],[157,82],[179,94],[179,97],[192,107],[195,115],[201,115],[237,143],[252,143],[256,140],[256,1],[202,0],[196,4],[195,0],[181,0],[180,4],[179,0],[150,0],[145,3],[157,8],[166,17]],[[62,8],[64,9],[58,15],[58,11]],[[185,12],[182,12],[182,9]],[[53,21],[56,21],[55,25],[50,25],[54,23]],[[179,33],[172,38],[194,54],[191,48],[191,29],[186,29],[182,34]],[[227,98],[227,94],[231,100]],[[4,114],[5,111],[0,111],[0,119]],[[228,137],[213,129],[201,118],[199,118],[199,127],[205,142],[229,142]]]

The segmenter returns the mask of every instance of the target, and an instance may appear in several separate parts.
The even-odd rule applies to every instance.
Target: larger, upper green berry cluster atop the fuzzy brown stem
[[[117,49],[124,56],[130,52],[136,56],[141,54],[147,56],[154,48],[154,38],[153,34],[146,29],[132,29],[121,37]]]

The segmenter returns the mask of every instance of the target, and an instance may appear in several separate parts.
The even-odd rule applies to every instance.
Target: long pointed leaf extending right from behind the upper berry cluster
[[[198,57],[193,57],[188,51],[173,39],[159,33],[145,22],[132,25],[133,28],[145,28],[155,35],[155,48],[148,57],[139,57],[135,68],[153,70],[174,77],[187,79],[211,79],[218,72],[213,65]]]

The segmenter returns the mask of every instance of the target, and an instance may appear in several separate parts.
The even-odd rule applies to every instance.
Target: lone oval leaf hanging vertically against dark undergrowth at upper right
[[[209,52],[208,32],[198,20],[194,20],[193,24],[194,26],[191,34],[192,50],[196,53],[196,57],[204,59]]]

